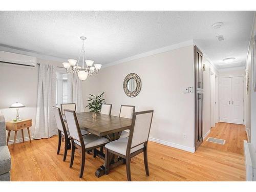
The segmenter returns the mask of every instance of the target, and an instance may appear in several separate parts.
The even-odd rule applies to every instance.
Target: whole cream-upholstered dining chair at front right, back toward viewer
[[[134,113],[129,137],[118,139],[105,145],[106,175],[110,172],[110,154],[114,154],[125,159],[127,180],[132,181],[131,158],[143,152],[146,175],[150,176],[147,162],[147,142],[153,113],[153,110]]]

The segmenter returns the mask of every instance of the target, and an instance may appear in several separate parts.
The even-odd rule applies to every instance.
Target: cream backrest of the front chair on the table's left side
[[[68,109],[65,109],[64,112],[65,112],[66,121],[69,127],[70,137],[83,144],[83,138],[82,138],[81,130],[76,117],[76,112]]]

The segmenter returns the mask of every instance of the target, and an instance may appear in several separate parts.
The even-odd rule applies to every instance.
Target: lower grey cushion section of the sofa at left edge
[[[0,175],[11,170],[11,155],[8,146],[0,146]]]

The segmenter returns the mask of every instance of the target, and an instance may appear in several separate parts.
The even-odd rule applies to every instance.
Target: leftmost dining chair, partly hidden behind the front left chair
[[[59,154],[60,146],[61,146],[61,138],[65,139],[65,151],[63,156],[63,161],[66,160],[68,148],[70,145],[70,135],[69,131],[66,129],[65,123],[63,121],[62,115],[60,113],[60,109],[56,106],[53,106],[53,113],[57,124],[58,129],[58,150],[57,154]]]

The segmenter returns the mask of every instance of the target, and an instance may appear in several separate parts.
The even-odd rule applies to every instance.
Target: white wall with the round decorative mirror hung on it
[[[141,92],[134,98],[123,91],[129,73],[138,74],[142,81]],[[83,94],[87,103],[90,93],[105,92],[116,116],[121,104],[135,105],[135,111],[153,109],[151,139],[194,152],[194,93],[183,93],[189,86],[194,87],[193,45],[103,68],[84,82]]]

